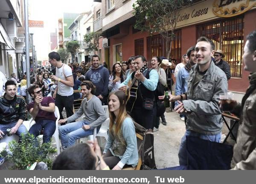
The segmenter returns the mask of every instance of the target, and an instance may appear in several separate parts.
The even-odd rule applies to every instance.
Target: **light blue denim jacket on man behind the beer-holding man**
[[[176,78],[176,85],[175,85],[175,95],[181,95],[188,91],[188,79],[189,79],[189,72],[186,69],[180,68],[178,71],[177,78]],[[175,106],[178,105],[178,102],[175,102]]]

